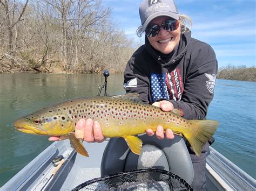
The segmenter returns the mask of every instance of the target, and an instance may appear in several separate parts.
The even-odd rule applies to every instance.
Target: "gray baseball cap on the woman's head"
[[[144,0],[139,5],[139,16],[143,31],[145,31],[147,25],[154,18],[168,16],[178,20],[179,12],[174,0]]]

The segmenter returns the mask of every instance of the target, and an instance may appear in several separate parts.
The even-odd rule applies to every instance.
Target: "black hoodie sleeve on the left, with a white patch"
[[[124,71],[124,88],[126,93],[137,93],[144,103],[149,103],[149,78],[147,67],[143,67],[145,56],[141,56],[140,48],[127,62]]]

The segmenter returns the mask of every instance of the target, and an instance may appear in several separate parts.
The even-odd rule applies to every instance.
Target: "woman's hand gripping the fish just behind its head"
[[[102,143],[106,138],[102,135],[102,129],[98,122],[92,121],[92,119],[79,119],[76,124],[75,136],[78,139],[83,139],[88,143]],[[68,136],[51,136],[49,140],[64,140]]]

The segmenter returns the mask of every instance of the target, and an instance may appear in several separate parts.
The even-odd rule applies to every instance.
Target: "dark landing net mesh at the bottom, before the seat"
[[[160,169],[139,169],[86,181],[73,190],[193,190],[178,175]]]

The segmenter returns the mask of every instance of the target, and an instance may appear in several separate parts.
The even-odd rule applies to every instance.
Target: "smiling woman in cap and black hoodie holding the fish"
[[[217,60],[213,49],[191,38],[186,24],[189,17],[179,15],[174,1],[148,1],[139,6],[142,26],[137,30],[140,37],[145,32],[145,44],[133,53],[124,72],[127,93],[138,93],[145,103],[160,107],[163,111],[179,108],[186,119],[204,119],[213,98]],[[92,131],[93,129],[93,131]],[[92,132],[94,132],[92,134]],[[86,142],[103,142],[98,122],[80,119],[76,126],[77,137]],[[153,136],[152,130],[147,135]],[[161,126],[156,136],[164,139]],[[165,133],[173,139],[171,129]],[[51,140],[59,138],[51,137]],[[206,189],[205,158],[208,144],[198,157],[188,146],[193,167],[195,190]]]

